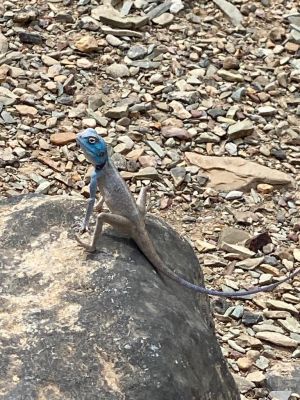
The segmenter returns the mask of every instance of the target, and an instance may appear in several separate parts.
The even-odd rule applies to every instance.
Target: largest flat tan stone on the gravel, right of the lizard
[[[208,186],[220,190],[249,190],[258,183],[286,185],[292,178],[284,172],[265,167],[240,157],[203,156],[186,152],[187,160],[206,171]]]

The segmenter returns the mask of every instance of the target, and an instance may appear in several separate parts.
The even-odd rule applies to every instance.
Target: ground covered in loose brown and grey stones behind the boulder
[[[187,236],[208,287],[300,265],[296,0],[4,0],[0,195],[88,196],[95,128],[149,211]],[[300,280],[213,300],[244,399],[300,398]]]

